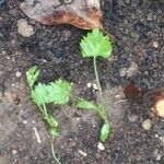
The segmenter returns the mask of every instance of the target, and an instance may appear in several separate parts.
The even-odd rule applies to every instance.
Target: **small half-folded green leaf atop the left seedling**
[[[30,68],[28,71],[26,72],[26,81],[31,89],[33,87],[36,80],[38,79],[38,75],[39,75],[39,70],[37,66]]]

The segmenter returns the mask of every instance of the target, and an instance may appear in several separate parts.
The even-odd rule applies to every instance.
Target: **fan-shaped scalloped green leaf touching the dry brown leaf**
[[[108,58],[113,51],[113,45],[108,36],[104,36],[99,30],[94,28],[87,33],[80,43],[82,56]]]

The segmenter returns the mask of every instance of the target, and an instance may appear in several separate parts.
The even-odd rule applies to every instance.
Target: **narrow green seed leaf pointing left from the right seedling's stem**
[[[96,105],[94,105],[93,103],[85,101],[83,98],[80,98],[79,102],[75,104],[77,108],[81,108],[81,109],[91,109],[95,113],[97,113],[98,107]]]

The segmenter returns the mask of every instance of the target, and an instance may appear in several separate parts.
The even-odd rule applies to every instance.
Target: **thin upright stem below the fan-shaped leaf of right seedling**
[[[96,66],[96,57],[93,57],[93,66],[94,66],[94,73],[95,73],[95,78],[96,78],[96,83],[98,85],[98,92],[99,92],[99,96],[101,96],[101,104],[104,107],[105,104],[104,104],[104,97],[103,97],[102,86],[101,86],[97,66]]]

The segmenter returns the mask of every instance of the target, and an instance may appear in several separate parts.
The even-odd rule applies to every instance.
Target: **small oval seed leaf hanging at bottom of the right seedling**
[[[101,129],[101,141],[105,142],[110,133],[110,127],[108,122],[104,122],[102,129]]]

